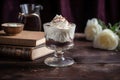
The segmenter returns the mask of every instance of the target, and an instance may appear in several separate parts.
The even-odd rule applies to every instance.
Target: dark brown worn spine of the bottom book
[[[0,56],[4,58],[31,60],[32,49],[15,46],[0,46]]]

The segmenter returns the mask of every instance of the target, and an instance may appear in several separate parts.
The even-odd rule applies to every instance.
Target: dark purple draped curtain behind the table
[[[120,20],[120,0],[2,0],[0,3],[0,24],[17,22],[20,4],[41,4],[42,23],[49,22],[56,14],[62,14],[77,25],[76,32],[84,32],[88,19],[100,18],[106,24]]]

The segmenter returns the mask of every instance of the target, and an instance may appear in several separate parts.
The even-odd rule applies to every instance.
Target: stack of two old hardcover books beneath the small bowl
[[[45,47],[44,32],[22,31],[15,36],[7,36],[0,31],[0,57],[35,60],[54,51]]]

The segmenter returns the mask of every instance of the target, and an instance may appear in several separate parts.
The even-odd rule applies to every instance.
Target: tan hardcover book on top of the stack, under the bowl
[[[38,46],[45,43],[44,32],[22,31],[15,36],[8,36],[4,31],[0,31],[0,44]]]

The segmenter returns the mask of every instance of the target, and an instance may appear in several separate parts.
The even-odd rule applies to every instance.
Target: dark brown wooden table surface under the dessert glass
[[[75,64],[49,67],[35,61],[0,60],[0,80],[120,80],[120,52],[95,49],[84,35],[76,34],[73,49],[65,52]]]

